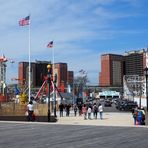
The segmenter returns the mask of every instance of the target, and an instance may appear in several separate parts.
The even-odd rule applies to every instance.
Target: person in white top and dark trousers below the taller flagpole
[[[29,104],[27,105],[27,111],[28,111],[28,121],[34,121],[34,106],[33,102],[29,101]]]

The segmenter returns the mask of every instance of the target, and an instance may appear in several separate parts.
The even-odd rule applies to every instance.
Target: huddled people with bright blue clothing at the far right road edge
[[[132,110],[134,125],[145,125],[145,111],[139,107]]]

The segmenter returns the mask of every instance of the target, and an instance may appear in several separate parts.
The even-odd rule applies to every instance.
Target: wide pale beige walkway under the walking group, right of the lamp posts
[[[73,114],[71,114],[70,117],[58,116],[57,118],[58,121],[56,124],[135,127],[131,113],[106,112],[103,114],[103,120],[99,119],[99,116],[97,119],[92,118],[91,120],[84,120],[83,115],[74,117]]]

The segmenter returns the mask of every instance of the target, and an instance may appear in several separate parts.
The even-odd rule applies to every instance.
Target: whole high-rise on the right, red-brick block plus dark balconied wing
[[[101,72],[99,73],[100,86],[123,85],[124,75],[143,75],[146,66],[146,51],[126,52],[125,55],[103,54],[101,55]]]

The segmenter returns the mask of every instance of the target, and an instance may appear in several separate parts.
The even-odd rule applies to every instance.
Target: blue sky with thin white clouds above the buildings
[[[7,62],[7,81],[28,61],[28,26],[18,21],[31,14],[31,61],[66,62],[75,75],[83,69],[98,84],[100,56],[124,54],[148,46],[147,0],[0,0],[0,54]]]

